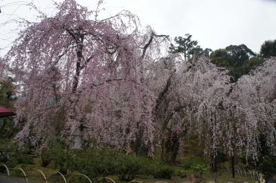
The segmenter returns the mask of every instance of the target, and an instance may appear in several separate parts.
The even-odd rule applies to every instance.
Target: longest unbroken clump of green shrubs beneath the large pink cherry
[[[170,179],[174,168],[164,162],[150,158],[127,155],[114,149],[89,148],[81,153],[68,151],[61,142],[49,144],[41,153],[41,165],[55,163],[61,173],[78,171],[92,179],[116,175],[121,181],[131,181],[137,176],[150,176]]]

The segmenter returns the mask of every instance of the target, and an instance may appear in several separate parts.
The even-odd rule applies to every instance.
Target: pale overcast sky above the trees
[[[48,14],[53,12],[50,0],[32,2]],[[95,0],[77,2],[90,10],[95,10],[97,4]],[[0,54],[8,50],[18,32],[16,24],[5,22],[34,19],[34,11],[23,4],[0,0]],[[102,7],[110,15],[130,10],[139,16],[142,25],[150,25],[158,34],[192,34],[201,47],[213,50],[244,43],[259,52],[264,41],[276,39],[275,0],[106,0]]]

